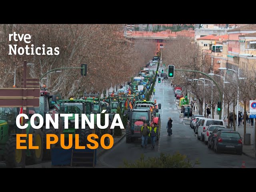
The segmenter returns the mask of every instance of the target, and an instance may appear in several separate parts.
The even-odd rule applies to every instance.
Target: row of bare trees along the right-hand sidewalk
[[[234,122],[236,119],[236,104],[239,88],[239,102],[244,105],[244,120],[246,119],[246,110],[249,111],[249,100],[256,99],[256,71],[253,68],[254,63],[250,64],[246,68],[241,69],[239,72],[239,79],[236,72],[230,70],[213,70],[211,65],[210,55],[204,54],[197,44],[194,44],[192,39],[179,37],[174,40],[168,40],[163,50],[163,62],[166,64],[175,65],[176,69],[197,70],[208,73],[218,74],[225,76],[225,86],[223,86],[223,79],[219,76],[212,76],[220,87],[221,93],[219,93],[217,87],[213,86],[213,106],[215,106],[219,100],[222,100],[222,93],[224,92],[224,105],[228,107],[228,111],[224,111],[224,116],[227,114],[229,124],[229,113],[233,112]],[[233,70],[238,71],[237,66],[232,66]],[[242,78],[241,78],[242,77]],[[183,72],[175,71],[175,77],[173,79],[174,85],[182,86],[186,92],[192,92],[194,96],[199,100],[199,113],[202,114],[203,100],[207,104],[211,103],[212,84],[210,81],[205,81],[205,87],[203,82],[195,81],[193,79],[205,78],[209,79],[197,72]],[[224,87],[224,89],[223,89]],[[204,89],[205,88],[205,89]],[[232,109],[230,109],[232,105]],[[231,110],[231,111],[230,111]],[[244,133],[246,133],[246,123],[244,124]],[[235,129],[235,128],[234,128]]]

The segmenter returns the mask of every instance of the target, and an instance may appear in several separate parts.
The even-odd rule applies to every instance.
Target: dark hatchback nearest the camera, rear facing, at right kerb
[[[239,132],[232,130],[219,131],[214,141],[214,151],[216,153],[222,151],[235,152],[242,155],[243,142]]]

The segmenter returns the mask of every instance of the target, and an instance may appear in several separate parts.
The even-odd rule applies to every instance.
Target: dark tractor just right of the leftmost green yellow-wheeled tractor
[[[50,124],[50,129],[46,129],[45,127],[45,116],[46,114],[52,114],[52,119],[55,121],[55,114],[60,114],[60,103],[58,101],[62,100],[60,94],[50,95],[50,92],[47,91],[46,86],[44,85],[40,90],[40,98],[39,107],[29,108],[30,113],[35,112],[36,114],[40,114],[44,118],[44,125],[41,128],[43,132],[43,140],[44,140],[44,156],[43,160],[50,160],[51,159],[51,150],[46,149],[46,134],[56,134],[59,138],[59,142],[56,144],[52,144],[51,148],[55,146],[60,146],[60,134],[63,132],[63,120],[60,116],[58,116],[59,127],[58,129],[54,129],[52,124]]]

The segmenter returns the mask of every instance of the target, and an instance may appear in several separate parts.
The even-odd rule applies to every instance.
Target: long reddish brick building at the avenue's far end
[[[126,32],[125,36],[129,40],[136,39],[148,39],[154,40],[156,42],[156,53],[160,52],[161,48],[164,48],[164,41],[172,38],[177,38],[178,36],[183,36],[187,38],[194,38],[194,30],[182,30],[178,32],[172,32],[172,30],[165,30],[161,32],[148,32],[148,31],[130,31]]]

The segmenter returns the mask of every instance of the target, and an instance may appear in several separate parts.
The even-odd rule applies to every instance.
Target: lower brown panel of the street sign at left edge
[[[39,98],[27,99],[27,107],[39,107]],[[23,107],[23,99],[0,99],[0,107]]]

